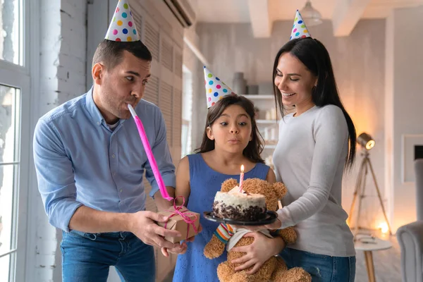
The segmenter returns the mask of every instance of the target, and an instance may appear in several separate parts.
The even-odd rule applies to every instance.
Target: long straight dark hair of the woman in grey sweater
[[[345,168],[351,168],[355,159],[355,142],[357,136],[353,120],[348,115],[347,111],[341,102],[338,94],[338,87],[336,87],[335,75],[333,75],[331,58],[328,51],[321,42],[311,37],[292,39],[288,41],[276,54],[274,68],[272,73],[272,81],[276,78],[276,68],[278,66],[279,58],[282,54],[289,52],[297,57],[313,75],[317,77],[317,85],[312,90],[312,101],[316,106],[335,105],[341,108],[348,125],[348,139],[349,150],[348,157],[345,160]],[[281,111],[283,116],[283,103],[281,93],[278,87],[274,85],[274,97],[276,110]]]

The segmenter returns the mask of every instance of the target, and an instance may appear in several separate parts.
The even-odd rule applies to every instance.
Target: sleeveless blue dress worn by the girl
[[[203,212],[212,210],[212,204],[216,192],[221,184],[228,178],[235,178],[239,182],[240,175],[227,175],[218,173],[207,166],[201,154],[188,155],[190,163],[190,197],[188,197],[188,209],[200,214],[202,232],[195,236],[192,243],[188,243],[188,250],[184,255],[178,255],[173,282],[214,282],[217,278],[217,266],[226,261],[226,251],[216,259],[204,257],[203,250],[219,223],[204,219]],[[256,164],[252,170],[244,174],[244,179],[266,179],[269,166]]]

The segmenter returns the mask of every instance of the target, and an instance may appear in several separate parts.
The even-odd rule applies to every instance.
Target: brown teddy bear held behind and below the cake
[[[222,192],[228,192],[232,188],[238,185],[237,180],[231,178],[226,180],[221,185],[221,191]],[[282,199],[283,196],[286,195],[286,187],[283,185],[283,183],[274,183],[270,184],[266,180],[261,180],[259,178],[248,178],[244,180],[243,182],[243,191],[251,194],[261,194],[264,195],[266,198],[266,207],[269,211],[274,211],[278,209],[278,200]],[[222,237],[219,235],[216,236],[216,234],[219,233],[218,230],[221,229],[223,231],[228,231],[229,234],[228,242],[223,243],[224,238],[222,240]],[[214,235],[212,236],[212,239],[207,243],[207,245],[204,247],[204,256],[209,259],[214,259],[216,257],[219,257],[223,254],[223,251],[225,250],[226,245],[230,245],[231,238],[235,238],[233,236],[235,233],[243,231],[245,232],[251,232],[246,231],[244,228],[235,228],[229,224],[223,224],[219,226],[218,230],[215,231]],[[260,231],[270,237],[269,231]],[[273,236],[280,236],[283,238],[286,244],[292,244],[295,243],[295,240],[297,239],[297,233],[292,227],[284,228],[281,230],[277,230],[271,233]],[[242,237],[238,240],[237,243],[233,247],[240,247],[245,245],[250,245],[254,241],[254,238],[251,237]],[[233,244],[231,244],[233,245]],[[283,261],[283,259],[279,256],[274,256],[268,259],[260,268],[259,270],[252,275],[247,274],[247,271],[250,271],[252,269],[252,266],[250,268],[242,270],[242,271],[235,271],[235,267],[240,264],[232,264],[231,261],[233,259],[238,259],[239,257],[243,257],[245,255],[245,252],[233,252],[231,250],[228,250],[228,259],[226,262],[222,262],[217,267],[217,276],[219,277],[219,281],[221,282],[242,282],[242,281],[283,281],[283,282],[291,282],[291,281],[304,281],[309,282],[312,281],[311,276],[305,271],[304,269],[300,267],[295,267],[293,269],[288,269],[286,266],[286,263]]]

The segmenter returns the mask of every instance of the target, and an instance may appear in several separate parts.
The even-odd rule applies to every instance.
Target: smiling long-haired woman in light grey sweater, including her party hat
[[[293,37],[276,55],[274,95],[283,116],[273,159],[288,194],[278,220],[266,228],[296,226],[298,240],[281,252],[312,281],[354,281],[353,234],[341,206],[342,178],[355,159],[355,127],[336,87],[329,53],[307,32],[298,13]],[[299,26],[297,26],[299,27]],[[298,38],[296,38],[298,37]]]

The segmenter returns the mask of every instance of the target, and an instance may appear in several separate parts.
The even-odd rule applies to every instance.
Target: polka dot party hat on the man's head
[[[128,0],[119,0],[105,39],[130,42],[140,40]]]

